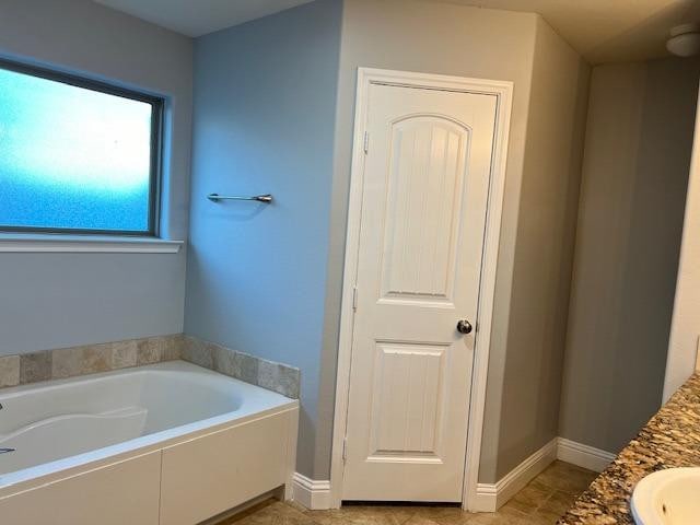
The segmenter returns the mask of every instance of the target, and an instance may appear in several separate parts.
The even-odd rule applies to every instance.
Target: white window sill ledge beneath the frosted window
[[[0,233],[0,253],[176,254],[183,244],[155,237]]]

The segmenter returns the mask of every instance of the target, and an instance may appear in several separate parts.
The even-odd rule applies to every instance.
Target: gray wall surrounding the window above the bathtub
[[[88,0],[2,0],[0,56],[168,97],[163,214],[187,234],[191,40]],[[0,254],[0,354],[182,331],[185,250]]]

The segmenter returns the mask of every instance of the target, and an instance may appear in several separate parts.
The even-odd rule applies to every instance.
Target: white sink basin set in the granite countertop
[[[700,523],[700,468],[669,468],[643,478],[632,493],[638,525]]]

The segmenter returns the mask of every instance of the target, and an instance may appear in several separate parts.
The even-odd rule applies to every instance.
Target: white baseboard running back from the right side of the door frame
[[[539,451],[526,458],[497,483],[477,485],[474,512],[495,512],[508,500],[521,491],[538,474],[557,459],[558,439],[555,438]]]

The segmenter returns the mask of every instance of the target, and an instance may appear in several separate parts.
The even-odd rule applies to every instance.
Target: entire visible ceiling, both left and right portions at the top
[[[201,36],[311,0],[95,0],[188,36]],[[380,0],[377,0],[380,1]],[[666,56],[674,25],[700,22],[699,0],[423,0],[537,12],[590,62]]]

